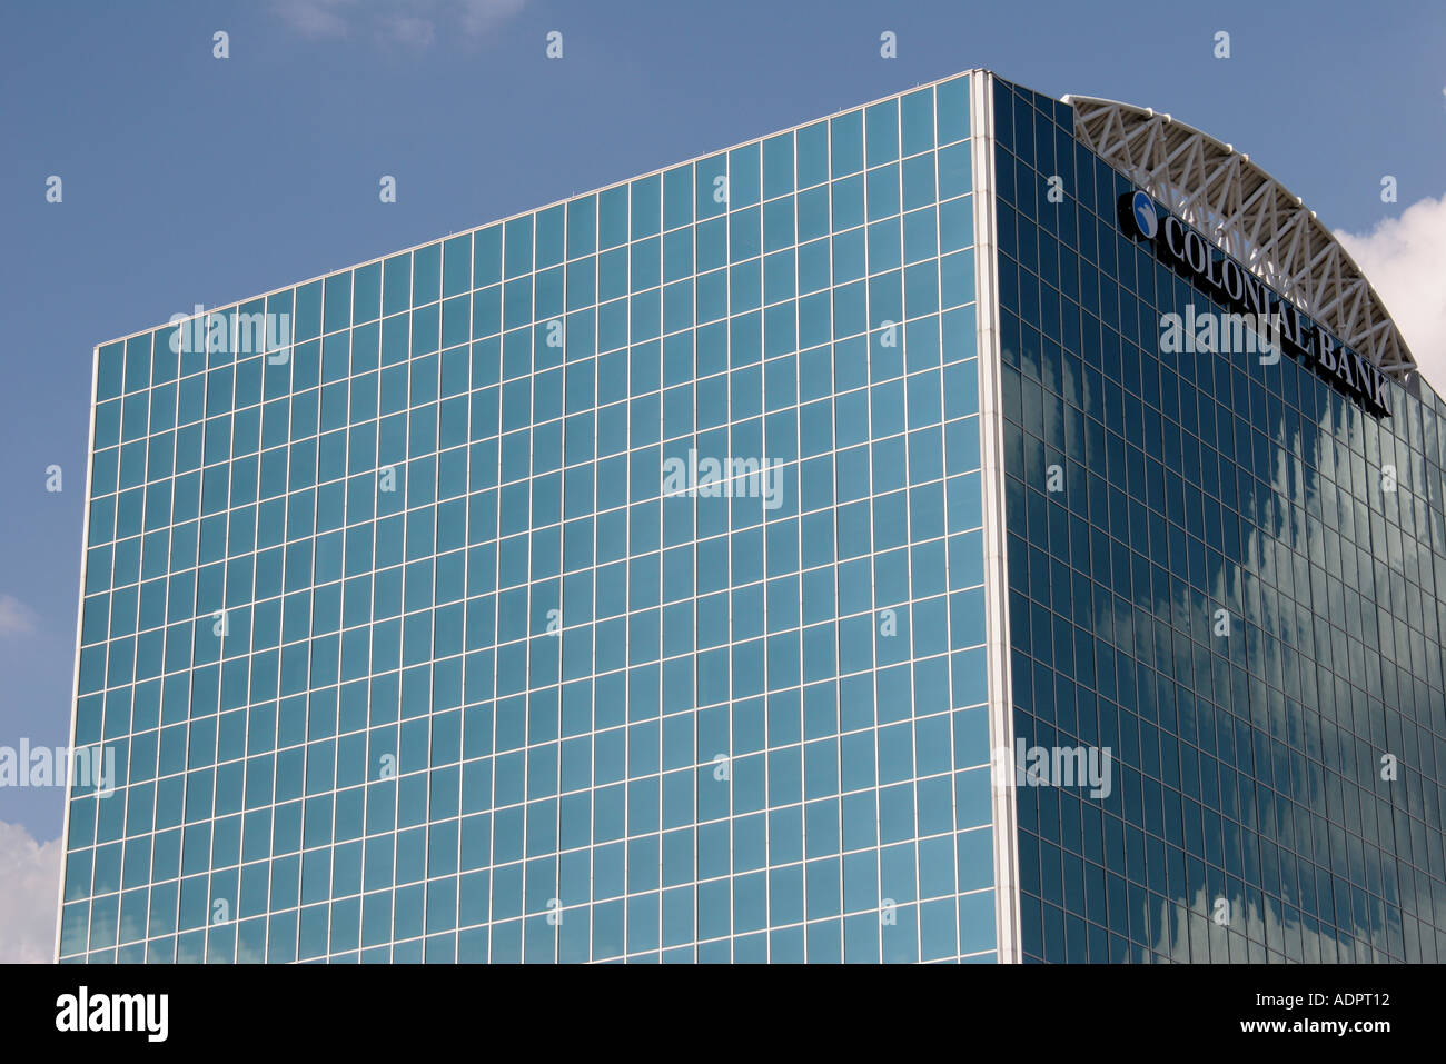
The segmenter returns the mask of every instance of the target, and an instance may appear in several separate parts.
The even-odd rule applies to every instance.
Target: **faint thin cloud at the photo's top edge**
[[[275,0],[281,17],[304,36],[344,38],[369,29],[377,38],[427,48],[455,27],[476,38],[512,17],[526,0]]]

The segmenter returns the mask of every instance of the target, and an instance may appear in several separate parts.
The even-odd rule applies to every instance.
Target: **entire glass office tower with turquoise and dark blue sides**
[[[98,347],[58,957],[1446,956],[1446,408],[1294,292],[1164,353],[1278,278],[1192,278],[1100,103],[975,71]]]

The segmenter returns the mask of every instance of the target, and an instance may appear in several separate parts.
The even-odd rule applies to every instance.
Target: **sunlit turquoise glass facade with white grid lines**
[[[59,957],[992,960],[969,85],[100,347]]]

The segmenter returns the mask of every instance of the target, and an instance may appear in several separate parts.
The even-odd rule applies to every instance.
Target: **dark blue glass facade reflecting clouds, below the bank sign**
[[[1069,106],[993,85],[1015,730],[1115,762],[1017,792],[1024,958],[1446,958],[1446,405],[1161,353],[1226,308]]]

